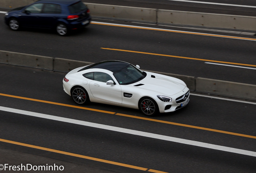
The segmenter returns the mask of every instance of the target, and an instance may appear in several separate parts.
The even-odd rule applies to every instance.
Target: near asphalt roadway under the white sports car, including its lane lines
[[[256,170],[255,103],[192,93],[184,109],[144,117],[96,103],[78,107],[63,91],[64,73],[5,64],[0,73],[0,164],[89,173]]]

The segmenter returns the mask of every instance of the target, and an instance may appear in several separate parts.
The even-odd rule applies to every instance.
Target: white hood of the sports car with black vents
[[[175,95],[186,88],[186,84],[178,78],[152,72],[147,72],[147,76],[144,79],[132,85],[134,87],[158,92],[159,95],[165,96]]]

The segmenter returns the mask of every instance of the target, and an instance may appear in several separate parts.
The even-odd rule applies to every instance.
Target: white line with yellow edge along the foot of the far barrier
[[[107,23],[107,22],[91,22],[91,24],[105,24],[110,26],[124,26],[124,27],[132,27],[132,28],[138,28],[138,29],[149,29],[149,30],[161,30],[161,31],[169,31],[169,32],[178,32],[182,34],[197,34],[202,36],[214,36],[214,37],[222,37],[222,38],[233,38],[233,39],[239,39],[239,40],[250,40],[250,41],[256,41],[255,38],[246,38],[246,37],[236,37],[236,36],[227,36],[227,35],[219,35],[219,34],[206,34],[202,32],[188,32],[188,31],[181,31],[181,30],[169,30],[169,29],[162,29],[162,28],[152,28],[152,27],[145,27],[145,26],[134,26],[134,25],[125,25],[125,24],[114,24],[114,23]]]

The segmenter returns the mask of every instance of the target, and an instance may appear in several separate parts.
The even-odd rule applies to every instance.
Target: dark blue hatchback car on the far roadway
[[[55,29],[60,36],[90,24],[90,10],[81,0],[38,0],[5,14],[12,30],[22,27]]]

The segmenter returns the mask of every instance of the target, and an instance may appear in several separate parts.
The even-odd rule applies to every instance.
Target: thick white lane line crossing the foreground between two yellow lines
[[[187,144],[187,145],[194,145],[194,146],[198,146],[198,147],[204,147],[204,148],[209,148],[209,149],[227,151],[230,153],[237,153],[237,154],[256,157],[256,152],[254,152],[254,151],[236,149],[236,148],[225,147],[225,146],[221,146],[221,145],[214,145],[214,144],[209,144],[209,143],[202,143],[202,142],[198,142],[198,141],[191,141],[191,140],[187,140],[187,139],[169,137],[169,136],[158,135],[158,134],[154,134],[154,133],[136,131],[136,130],[132,130],[132,129],[124,129],[121,127],[114,127],[114,126],[109,126],[109,125],[90,123],[87,121],[69,119],[69,118],[64,118],[64,117],[57,117],[57,116],[53,116],[53,115],[35,113],[35,112],[30,112],[30,111],[23,111],[23,110],[19,110],[19,109],[8,108],[8,107],[0,107],[0,110],[6,111],[6,112],[11,112],[11,113],[22,114],[22,115],[29,115],[29,116],[33,116],[33,117],[44,118],[44,119],[50,119],[50,120],[55,120],[55,121],[61,121],[61,122],[65,122],[65,123],[72,123],[72,124],[76,124],[76,125],[95,127],[95,128],[99,128],[99,129],[105,129],[105,130],[110,130],[110,131],[116,131],[116,132],[121,132],[121,133],[127,133],[127,134],[132,134],[132,135],[138,135],[138,136],[143,136],[143,137],[149,137],[149,138],[154,138],[154,139],[160,139],[160,140],[165,140],[165,141],[171,141],[171,142],[182,143],[182,144]]]

